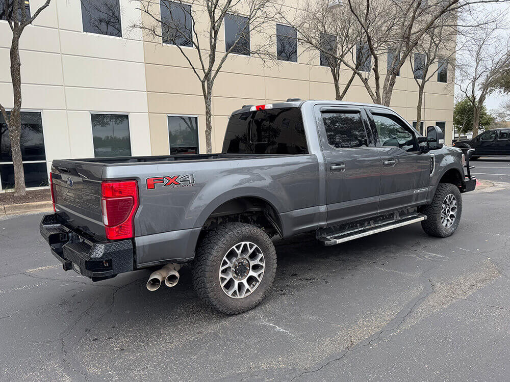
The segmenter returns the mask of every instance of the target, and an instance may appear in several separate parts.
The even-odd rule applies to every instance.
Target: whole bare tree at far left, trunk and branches
[[[0,11],[0,18],[5,19],[12,32],[10,63],[11,63],[11,81],[13,92],[13,108],[7,112],[0,102],[0,111],[4,117],[9,139],[11,141],[12,162],[14,166],[14,195],[25,195],[25,176],[23,172],[23,162],[21,159],[21,60],[19,58],[19,39],[27,25],[31,24],[39,13],[49,6],[50,0],[46,2],[30,15],[30,10],[25,7],[22,0],[0,0],[3,6]]]

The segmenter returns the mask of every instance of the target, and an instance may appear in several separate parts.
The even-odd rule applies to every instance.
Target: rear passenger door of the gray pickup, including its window
[[[380,158],[362,108],[316,106],[327,171],[328,226],[377,214]]]

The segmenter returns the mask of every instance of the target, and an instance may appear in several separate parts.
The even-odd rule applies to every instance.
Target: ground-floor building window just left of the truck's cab
[[[168,116],[170,155],[198,154],[198,118]]]

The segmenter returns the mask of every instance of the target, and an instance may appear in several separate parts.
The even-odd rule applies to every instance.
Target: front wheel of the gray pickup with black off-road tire
[[[439,183],[432,203],[422,207],[427,219],[421,222],[423,230],[430,236],[451,236],[461,221],[462,197],[457,186]]]

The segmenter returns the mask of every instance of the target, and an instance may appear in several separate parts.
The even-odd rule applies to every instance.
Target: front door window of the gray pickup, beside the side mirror
[[[392,115],[374,114],[376,142],[378,146],[395,146],[404,151],[415,151],[413,134],[403,121]]]

